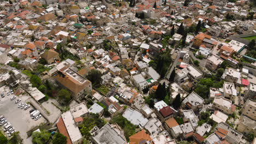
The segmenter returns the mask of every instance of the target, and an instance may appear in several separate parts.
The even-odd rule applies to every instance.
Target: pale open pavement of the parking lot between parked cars
[[[0,93],[4,92],[5,97],[0,97],[0,115],[3,115],[5,119],[15,128],[16,131],[20,131],[20,136],[24,140],[23,143],[32,143],[31,137],[27,137],[27,131],[40,125],[40,123],[46,123],[44,117],[39,118],[37,121],[30,116],[30,110],[33,109],[31,106],[27,110],[18,108],[18,104],[15,104],[15,100],[21,98],[20,103],[26,103],[26,100],[30,98],[29,95],[22,95],[22,97],[17,97],[14,100],[10,98],[14,94],[7,95],[10,89],[6,86],[0,88]]]

